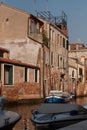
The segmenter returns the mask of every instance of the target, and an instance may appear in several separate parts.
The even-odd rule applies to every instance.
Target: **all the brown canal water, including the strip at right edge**
[[[86,104],[87,97],[74,99],[70,103]],[[13,130],[35,130],[34,126],[32,125],[30,121],[30,117],[31,117],[31,111],[33,109],[38,109],[39,106],[40,106],[40,103],[31,104],[31,105],[29,103],[21,103],[21,104],[11,104],[11,105],[6,106],[7,110],[15,111],[22,115],[21,120],[15,125]],[[25,120],[27,122],[27,129],[25,129],[25,125],[24,125]]]

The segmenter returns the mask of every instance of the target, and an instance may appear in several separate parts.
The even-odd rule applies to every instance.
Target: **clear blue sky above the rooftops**
[[[50,11],[60,16],[67,14],[70,42],[87,44],[87,0],[0,0],[10,6],[35,14],[35,11]]]

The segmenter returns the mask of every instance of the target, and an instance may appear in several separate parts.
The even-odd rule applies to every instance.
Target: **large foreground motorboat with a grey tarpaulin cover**
[[[87,120],[87,109],[69,103],[42,103],[32,110],[31,122],[37,130],[56,130]]]

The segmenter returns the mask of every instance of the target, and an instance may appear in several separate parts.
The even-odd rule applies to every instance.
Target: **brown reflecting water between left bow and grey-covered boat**
[[[15,125],[13,130],[24,130],[24,121],[27,120],[27,127],[29,130],[34,130],[34,126],[32,125],[30,121],[30,116],[31,116],[31,110],[32,109],[37,109],[39,107],[38,105],[30,105],[30,104],[15,104],[15,105],[10,105],[7,106],[7,110],[11,111],[16,111],[22,115],[22,119]]]

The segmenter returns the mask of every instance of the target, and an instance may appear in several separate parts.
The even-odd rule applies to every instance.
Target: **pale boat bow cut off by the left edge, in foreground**
[[[6,98],[0,97],[0,130],[12,130],[16,123],[21,119],[21,115],[17,112],[4,109]]]

